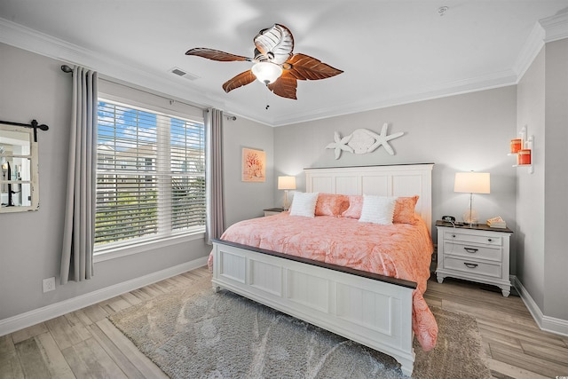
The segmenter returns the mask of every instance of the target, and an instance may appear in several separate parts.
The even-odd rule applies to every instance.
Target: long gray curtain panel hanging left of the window
[[[97,87],[96,72],[74,68],[61,284],[68,280],[88,280],[93,275]]]

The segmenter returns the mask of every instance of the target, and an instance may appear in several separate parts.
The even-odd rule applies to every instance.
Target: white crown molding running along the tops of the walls
[[[10,20],[0,18],[0,42],[23,50],[58,59],[68,64],[80,64],[99,71],[101,75],[119,83],[132,83],[138,87],[184,99],[196,107],[218,107],[231,109],[233,114],[240,114],[251,121],[269,126],[283,126],[298,122],[315,121],[343,114],[365,112],[383,107],[393,107],[428,99],[438,99],[473,91],[517,84],[538,55],[544,43],[568,37],[568,13],[557,14],[536,23],[511,70],[489,75],[471,77],[453,83],[443,83],[414,93],[402,93],[390,98],[367,99],[364,103],[346,104],[343,107],[323,107],[309,112],[290,114],[278,119],[268,120],[267,115],[241,109],[229,99],[197,91],[186,83],[179,83],[177,78],[164,79],[143,67],[129,65],[128,62],[101,56],[73,43],[48,36],[32,28],[23,27]],[[136,84],[134,84],[136,83]]]

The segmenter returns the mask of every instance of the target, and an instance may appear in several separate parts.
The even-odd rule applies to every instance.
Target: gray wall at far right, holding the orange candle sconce
[[[517,172],[518,278],[543,315],[568,320],[568,39],[547,43],[517,86],[517,129],[534,135],[534,173]]]

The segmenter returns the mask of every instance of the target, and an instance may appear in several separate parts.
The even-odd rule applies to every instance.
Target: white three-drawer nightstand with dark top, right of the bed
[[[438,283],[446,276],[492,284],[509,296],[509,228],[485,224],[452,225],[436,221],[438,229]]]

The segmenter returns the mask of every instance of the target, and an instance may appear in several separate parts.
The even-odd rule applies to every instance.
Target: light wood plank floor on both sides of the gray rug
[[[106,317],[208,275],[201,267],[0,336],[0,378],[165,378]],[[451,278],[430,280],[424,297],[476,317],[493,377],[568,375],[568,336],[540,331],[519,297]]]

